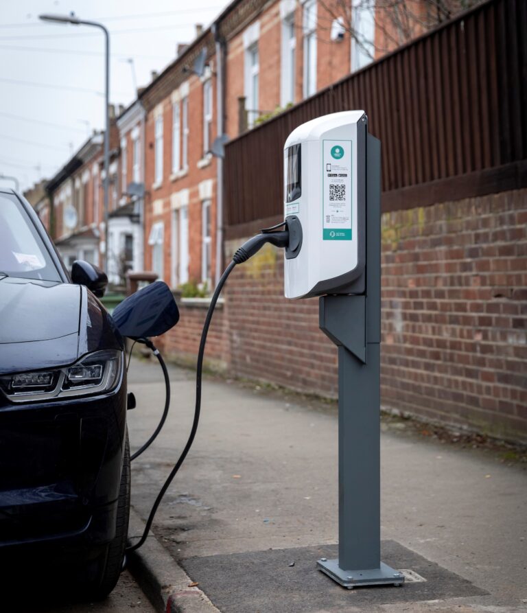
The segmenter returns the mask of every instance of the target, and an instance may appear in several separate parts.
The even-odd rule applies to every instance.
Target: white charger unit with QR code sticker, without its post
[[[364,292],[367,125],[364,111],[332,113],[285,141],[286,298]]]

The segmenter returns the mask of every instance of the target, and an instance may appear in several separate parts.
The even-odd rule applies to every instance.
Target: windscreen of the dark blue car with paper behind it
[[[23,277],[60,281],[60,275],[32,220],[15,196],[0,194],[0,279]]]

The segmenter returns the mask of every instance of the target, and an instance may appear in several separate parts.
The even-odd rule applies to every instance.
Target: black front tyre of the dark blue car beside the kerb
[[[124,443],[123,470],[119,485],[119,502],[117,503],[117,524],[115,537],[106,547],[106,551],[95,561],[92,581],[83,586],[86,599],[102,600],[115,588],[123,567],[124,551],[128,539],[128,520],[130,518],[130,443],[128,430]]]

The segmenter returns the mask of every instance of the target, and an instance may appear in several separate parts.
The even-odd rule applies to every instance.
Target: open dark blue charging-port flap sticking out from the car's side
[[[176,325],[179,310],[164,281],[154,281],[125,298],[112,313],[119,332],[128,338],[159,336]]]

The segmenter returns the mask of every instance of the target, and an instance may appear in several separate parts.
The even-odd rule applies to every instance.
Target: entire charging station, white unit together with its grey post
[[[338,347],[338,559],[346,588],[402,585],[380,559],[380,142],[364,111],[318,117],[284,146],[287,298],[319,296]]]

